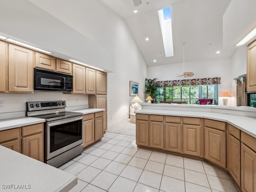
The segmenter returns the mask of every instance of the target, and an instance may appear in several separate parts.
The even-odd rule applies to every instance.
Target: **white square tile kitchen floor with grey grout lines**
[[[59,168],[78,176],[71,192],[241,191],[207,162],[138,148],[135,136],[111,132]]]

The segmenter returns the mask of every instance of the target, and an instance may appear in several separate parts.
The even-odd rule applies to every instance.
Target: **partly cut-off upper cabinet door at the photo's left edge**
[[[6,91],[7,43],[0,41],[0,92]]]

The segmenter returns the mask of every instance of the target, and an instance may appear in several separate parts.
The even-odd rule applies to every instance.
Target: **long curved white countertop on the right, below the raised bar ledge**
[[[256,138],[256,118],[238,116],[231,114],[220,114],[214,112],[197,112],[197,111],[176,111],[176,110],[154,110],[154,109],[141,109],[136,111],[138,114],[155,114],[155,115],[168,115],[168,116],[183,116],[183,117],[198,117],[212,119],[222,122],[227,122],[236,128],[246,132],[247,134]]]

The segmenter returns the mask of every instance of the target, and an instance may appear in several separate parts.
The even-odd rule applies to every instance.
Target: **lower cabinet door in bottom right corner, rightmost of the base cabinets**
[[[241,144],[241,189],[256,191],[256,153],[244,144]]]

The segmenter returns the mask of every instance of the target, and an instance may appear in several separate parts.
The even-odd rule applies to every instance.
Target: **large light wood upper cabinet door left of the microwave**
[[[33,93],[33,51],[9,44],[9,92]]]

